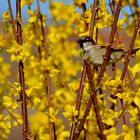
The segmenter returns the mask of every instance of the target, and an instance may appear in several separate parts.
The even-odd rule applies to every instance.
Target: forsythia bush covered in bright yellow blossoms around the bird
[[[12,127],[23,126],[21,108],[20,77],[18,64],[24,65],[25,91],[28,109],[28,138],[31,140],[57,139],[65,140],[70,136],[73,122],[82,119],[90,97],[88,79],[84,81],[84,90],[80,113],[75,109],[76,97],[79,92],[83,62],[76,39],[81,35],[89,35],[92,17],[92,7],[82,13],[82,5],[87,0],[73,0],[71,4],[63,1],[47,1],[48,16],[41,13],[41,7],[31,9],[34,0],[21,0],[22,8],[28,7],[28,22],[23,23],[16,17],[22,27],[22,44],[14,39],[10,10],[2,15],[0,32],[0,139],[10,139],[8,136]],[[40,0],[45,3],[46,0]],[[118,0],[115,0],[117,6]],[[127,13],[125,8],[133,8],[134,13]],[[140,9],[135,1],[123,3],[117,30],[130,37],[133,35],[136,12]],[[98,43],[104,43],[97,30],[110,28],[113,14],[109,4],[99,1],[98,17],[96,17],[93,38],[98,36]],[[87,27],[88,26],[88,27]],[[43,31],[45,31],[43,33]],[[119,34],[119,32],[118,32]],[[118,46],[124,47],[123,36],[115,37]],[[120,41],[121,40],[121,41]],[[115,44],[115,43],[114,43]],[[140,36],[137,34],[134,48],[140,48]],[[129,44],[127,44],[127,50]],[[120,80],[122,68],[115,67],[115,76],[105,72],[100,87],[97,86],[98,72],[94,73],[94,84],[101,88],[102,94],[97,93],[101,119],[104,123],[104,135],[107,140],[133,140],[140,138],[140,51],[132,58],[123,82]],[[124,60],[125,61],[125,60]],[[123,62],[121,62],[123,65]],[[118,67],[117,67],[118,66]],[[112,66],[107,66],[110,69]],[[47,74],[46,74],[47,73]],[[46,75],[49,84],[46,86]],[[116,97],[112,95],[116,93]],[[49,87],[50,86],[50,87]],[[49,88],[49,90],[47,89]],[[47,89],[47,90],[46,90]],[[48,93],[49,92],[49,93]],[[115,109],[110,105],[115,104]],[[93,105],[92,105],[93,106]],[[78,119],[77,118],[78,115]],[[85,120],[79,139],[99,139],[99,128],[94,108]],[[55,136],[51,136],[55,133]],[[15,134],[14,134],[15,135]],[[22,136],[21,136],[22,138]],[[17,139],[21,139],[17,138]]]

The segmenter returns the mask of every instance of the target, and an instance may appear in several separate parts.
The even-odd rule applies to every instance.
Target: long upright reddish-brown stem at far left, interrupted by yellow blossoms
[[[17,17],[17,43],[22,45],[22,28],[21,23],[21,0],[16,0],[16,17]],[[22,105],[22,117],[23,117],[23,140],[28,140],[29,130],[28,130],[28,113],[27,113],[27,103],[26,103],[26,91],[25,91],[25,78],[24,78],[24,66],[23,62],[19,62],[19,80],[21,84],[21,105]]]

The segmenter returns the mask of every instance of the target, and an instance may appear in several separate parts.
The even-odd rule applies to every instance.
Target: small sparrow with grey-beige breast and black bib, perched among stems
[[[95,66],[101,66],[104,61],[104,56],[106,54],[107,46],[96,44],[95,41],[90,36],[81,36],[77,42],[83,51],[83,58],[90,58],[91,62]],[[136,54],[140,48],[132,50],[131,54]],[[128,52],[123,49],[111,48],[110,56],[107,64],[113,64],[126,56]]]

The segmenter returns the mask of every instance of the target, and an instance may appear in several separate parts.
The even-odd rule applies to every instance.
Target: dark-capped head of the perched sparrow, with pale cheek
[[[94,45],[95,42],[90,36],[81,36],[77,42],[79,43],[80,47],[83,49],[83,51],[88,48],[88,46]]]

